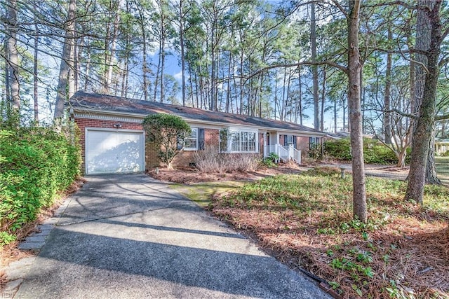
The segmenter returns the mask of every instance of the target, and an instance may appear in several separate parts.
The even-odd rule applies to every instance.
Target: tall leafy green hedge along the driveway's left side
[[[77,143],[75,143],[77,144]],[[79,146],[48,128],[0,128],[0,245],[79,176]]]

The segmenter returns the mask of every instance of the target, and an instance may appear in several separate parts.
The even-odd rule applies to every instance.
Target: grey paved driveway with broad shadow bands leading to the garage
[[[89,176],[15,298],[330,298],[164,183]]]

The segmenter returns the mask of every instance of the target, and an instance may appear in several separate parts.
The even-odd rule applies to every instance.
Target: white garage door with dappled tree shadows
[[[142,172],[144,158],[141,131],[86,130],[86,174]]]

